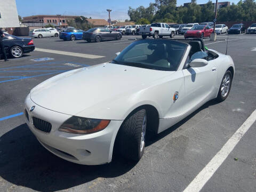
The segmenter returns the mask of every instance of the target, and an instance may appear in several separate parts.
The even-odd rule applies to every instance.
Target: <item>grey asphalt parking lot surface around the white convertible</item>
[[[256,108],[256,35],[229,35],[236,73],[227,100],[207,102],[157,135],[138,163],[118,156],[98,166],[67,162],[44,149],[25,124],[23,101],[30,89],[67,70],[110,61],[135,37],[141,38],[100,43],[34,39],[36,51],[0,61],[0,191],[183,191],[193,185]],[[227,35],[218,35],[216,42],[205,38],[205,45],[225,53]],[[34,60],[39,58],[51,60]],[[255,191],[255,135],[253,123],[201,191]]]

